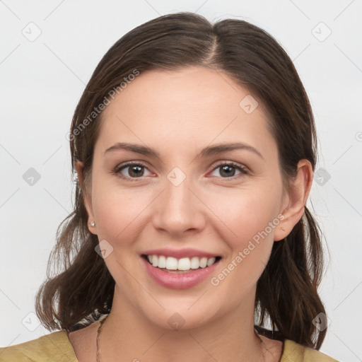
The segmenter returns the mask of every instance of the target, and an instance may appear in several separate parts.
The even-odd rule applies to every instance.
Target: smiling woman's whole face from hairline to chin
[[[228,144],[241,146],[214,149]],[[254,312],[288,198],[267,116],[247,90],[203,67],[140,74],[103,112],[92,167],[90,230],[117,298],[167,328]],[[150,254],[163,255],[160,267]]]

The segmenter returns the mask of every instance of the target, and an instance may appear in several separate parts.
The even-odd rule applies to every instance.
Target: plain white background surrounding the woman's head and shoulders
[[[320,287],[329,329],[320,350],[340,361],[361,361],[358,0],[0,1],[0,346],[48,333],[28,313],[34,312],[57,226],[72,209],[66,133],[86,83],[124,33],[177,11],[197,12],[210,21],[240,18],[255,23],[274,35],[293,59],[315,113],[317,169],[325,168],[330,175],[325,185],[314,182],[311,194],[330,254]],[[22,33],[30,33],[33,26],[36,34],[30,22],[41,30],[33,42]],[[40,174],[33,186],[23,180],[29,168]],[[37,328],[31,332],[25,325]]]

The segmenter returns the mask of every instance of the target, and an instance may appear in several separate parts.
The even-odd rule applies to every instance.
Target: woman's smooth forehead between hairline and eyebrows
[[[104,151],[112,143],[134,141],[182,153],[213,140],[243,141],[269,152],[274,140],[257,102],[222,71],[146,71],[107,105],[97,144]]]

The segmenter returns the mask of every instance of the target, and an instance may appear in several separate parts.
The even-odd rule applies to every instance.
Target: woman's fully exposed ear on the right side
[[[304,214],[304,207],[310,194],[313,182],[313,167],[309,160],[300,160],[297,174],[289,184],[289,190],[281,214],[284,219],[274,233],[274,241],[279,241],[291,233],[293,227]],[[284,210],[284,211],[283,211]]]

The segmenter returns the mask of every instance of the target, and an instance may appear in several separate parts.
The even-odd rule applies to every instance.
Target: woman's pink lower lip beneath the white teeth
[[[141,257],[141,259],[146,265],[148,275],[151,276],[151,278],[156,281],[156,283],[160,284],[161,286],[165,286],[166,288],[172,289],[187,289],[191,288],[192,286],[196,286],[215,271],[216,266],[220,261],[218,260],[212,264],[211,267],[190,269],[192,271],[189,271],[189,273],[177,274],[163,271],[163,269],[158,267],[153,267],[153,265],[147,262],[144,257]]]

